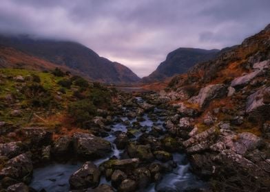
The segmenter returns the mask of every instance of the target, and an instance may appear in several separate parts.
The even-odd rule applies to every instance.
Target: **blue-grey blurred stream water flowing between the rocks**
[[[141,97],[136,97],[136,100],[138,103],[143,102],[143,99]],[[123,117],[120,117],[123,122],[129,121],[131,124],[136,121],[136,118],[134,119],[128,119],[125,117],[125,114],[127,112],[130,112],[134,110],[134,108],[123,108]],[[162,115],[163,110],[160,110],[158,108],[154,109],[154,113],[157,115],[157,119],[152,121],[151,118],[148,116],[149,114],[146,112],[143,115],[143,118],[145,121],[141,121],[140,124],[145,128],[145,132],[150,132],[152,130],[152,125],[158,125],[160,128],[165,130],[163,127],[164,123],[164,117]],[[119,118],[119,117],[115,117]],[[112,156],[115,156],[118,159],[121,159],[121,155],[123,154],[124,150],[119,150],[116,148],[116,145],[113,143],[114,139],[116,139],[115,132],[127,132],[127,125],[125,125],[123,122],[121,123],[114,123],[113,125],[109,125],[111,128],[111,131],[108,132],[109,136],[104,137],[103,139],[110,141],[112,145],[112,153],[108,154],[105,158],[100,158],[98,160],[94,161],[94,164],[96,166],[101,165],[101,163],[105,162],[106,160],[109,160]],[[140,130],[133,132],[134,138],[129,139],[130,141],[136,141],[142,134]],[[162,136],[160,136],[162,137]],[[163,175],[163,178],[158,183],[152,183],[149,185],[149,187],[143,191],[145,192],[154,192],[154,191],[185,191],[190,189],[201,189],[207,187],[205,182],[199,180],[194,174],[189,171],[189,163],[187,162],[187,158],[185,154],[180,153],[174,153],[173,160],[176,163],[176,167],[169,173],[165,173]],[[158,162],[158,160],[156,160]],[[76,162],[76,163],[54,163],[47,165],[45,167],[34,169],[33,178],[30,186],[37,190],[41,191],[42,189],[45,189],[45,191],[69,191],[69,178],[76,170],[81,168],[81,165],[83,165],[82,162]],[[105,179],[105,176],[101,176],[101,182],[100,184],[110,184],[110,181],[107,181]]]

